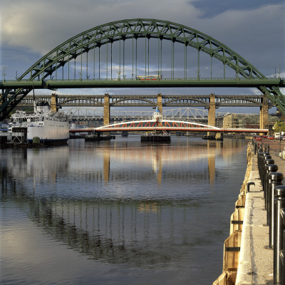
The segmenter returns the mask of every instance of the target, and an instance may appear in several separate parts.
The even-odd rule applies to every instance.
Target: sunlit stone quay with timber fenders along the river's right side
[[[268,139],[263,139],[262,143],[269,145],[269,153],[279,167],[278,172],[285,173],[285,143]],[[248,183],[251,184],[249,191]],[[257,155],[254,155],[251,143],[247,148],[247,172],[235,206],[230,236],[224,242],[223,273],[213,285],[270,283],[273,281],[273,250],[268,249],[269,227],[266,226],[264,192]]]

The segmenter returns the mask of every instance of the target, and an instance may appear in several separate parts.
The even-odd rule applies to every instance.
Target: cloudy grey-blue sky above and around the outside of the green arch
[[[265,76],[285,77],[285,0],[1,0],[0,80],[21,76],[33,63],[78,33],[110,21],[160,19],[212,36]],[[203,67],[202,67],[203,68]],[[204,70],[208,68],[204,66]],[[40,92],[40,90],[37,90]],[[41,93],[50,93],[41,90]],[[172,94],[173,90],[58,90],[58,93]],[[183,94],[251,94],[256,88],[180,88]],[[282,90],[285,93],[285,90]]]

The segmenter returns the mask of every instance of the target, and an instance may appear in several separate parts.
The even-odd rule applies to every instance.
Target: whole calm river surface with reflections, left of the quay
[[[212,284],[247,141],[0,150],[1,284]]]

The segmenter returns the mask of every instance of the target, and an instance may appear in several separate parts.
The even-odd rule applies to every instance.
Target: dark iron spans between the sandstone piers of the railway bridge
[[[59,95],[58,107],[103,107],[105,95]],[[46,101],[51,105],[51,95],[26,95],[18,106],[33,106],[33,100]],[[209,108],[210,95],[161,95],[162,107],[204,107]],[[216,108],[219,107],[261,107],[264,95],[214,95]],[[157,95],[109,95],[110,107],[152,107],[157,106]],[[269,100],[269,108],[274,104]]]

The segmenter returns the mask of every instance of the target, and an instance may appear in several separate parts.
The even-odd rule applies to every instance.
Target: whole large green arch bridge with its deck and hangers
[[[202,77],[202,61],[209,61],[207,77]],[[193,28],[126,19],[84,31],[16,80],[0,81],[0,120],[33,89],[162,87],[255,87],[285,114],[279,90],[284,78],[266,78],[231,48]]]

